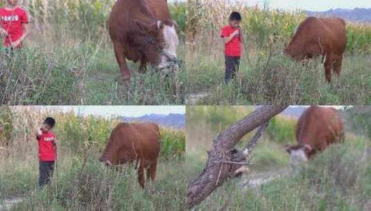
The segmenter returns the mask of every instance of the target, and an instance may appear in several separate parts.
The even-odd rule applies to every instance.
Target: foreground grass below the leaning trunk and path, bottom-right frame
[[[352,141],[331,146],[295,171],[285,167],[288,164],[285,160],[278,162],[281,160],[277,159],[281,157],[279,154],[263,153],[260,147],[254,153],[267,162],[255,161],[258,166],[252,166],[252,171],[269,172],[277,169],[280,163],[280,168],[286,172],[283,176],[259,187],[243,189],[244,176],[228,180],[195,210],[218,210],[226,203],[227,210],[368,210],[371,197],[368,160],[371,155],[366,155],[365,150],[370,151],[370,148],[366,148],[364,139],[350,143]],[[265,149],[273,151],[271,146],[269,144]],[[282,154],[282,158],[285,156],[288,157]],[[193,174],[196,176],[197,173],[193,171]]]

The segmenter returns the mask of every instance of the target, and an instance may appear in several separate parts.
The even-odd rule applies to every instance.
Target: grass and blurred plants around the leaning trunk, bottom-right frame
[[[222,128],[228,127],[236,121],[233,119],[241,119],[251,110],[246,106],[187,108],[188,181],[205,167],[206,151],[219,131],[217,123],[222,123]],[[350,116],[345,117],[346,114]],[[361,114],[366,118],[368,112]],[[285,151],[286,144],[295,142],[296,120],[274,117],[252,151],[250,171],[227,180],[194,210],[221,210],[225,204],[226,210],[370,210],[371,141],[367,136],[370,125],[354,117],[350,110],[341,111],[340,115],[345,122],[345,143],[330,146],[297,169],[291,169]],[[354,124],[357,128],[352,128]],[[245,135],[236,148],[245,146],[252,134]],[[272,176],[278,177],[258,187],[241,188],[247,180]]]

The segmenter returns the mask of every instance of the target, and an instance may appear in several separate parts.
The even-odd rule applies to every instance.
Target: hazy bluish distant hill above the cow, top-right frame
[[[307,15],[310,16],[335,16],[346,19],[350,22],[359,22],[359,23],[370,23],[371,24],[371,8],[354,8],[350,9],[334,9],[328,10],[325,12],[314,12],[314,11],[305,11]]]

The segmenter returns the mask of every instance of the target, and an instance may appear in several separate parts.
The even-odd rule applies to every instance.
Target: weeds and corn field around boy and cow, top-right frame
[[[302,20],[304,12],[246,8],[214,1],[189,3],[187,25],[187,87],[189,103],[207,105],[292,104],[344,105],[371,101],[371,27],[347,24],[348,45],[340,77],[325,81],[320,59],[307,66],[282,56],[282,49]],[[240,11],[245,37],[239,76],[223,82],[223,42],[219,36],[232,10]],[[192,32],[194,29],[194,33]],[[201,44],[202,43],[202,44]],[[360,91],[361,90],[361,91]],[[205,93],[202,99],[193,96]]]

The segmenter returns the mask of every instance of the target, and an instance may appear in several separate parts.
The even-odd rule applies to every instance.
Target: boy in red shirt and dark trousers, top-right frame
[[[225,83],[236,76],[239,71],[241,58],[242,33],[240,29],[241,15],[239,12],[232,12],[229,24],[222,28],[221,37],[225,44]]]

